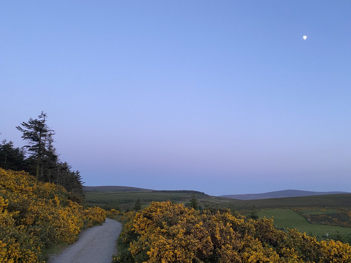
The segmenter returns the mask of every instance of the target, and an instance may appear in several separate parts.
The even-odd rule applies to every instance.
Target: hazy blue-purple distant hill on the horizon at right
[[[220,197],[227,197],[239,200],[257,200],[257,199],[269,199],[279,197],[297,197],[297,196],[310,196],[310,195],[335,195],[335,194],[350,194],[349,192],[312,192],[302,190],[282,190],[274,191],[261,194],[243,194],[243,195],[221,195]]]

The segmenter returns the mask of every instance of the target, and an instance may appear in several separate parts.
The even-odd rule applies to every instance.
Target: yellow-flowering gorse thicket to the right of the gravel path
[[[152,202],[129,212],[114,262],[351,262],[349,244],[317,242],[273,221]]]

